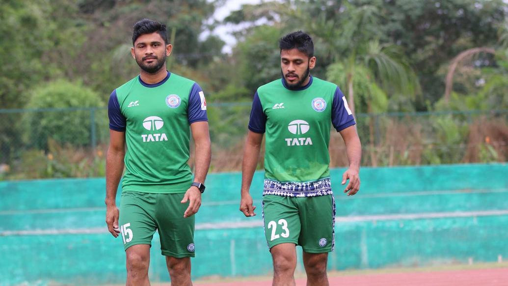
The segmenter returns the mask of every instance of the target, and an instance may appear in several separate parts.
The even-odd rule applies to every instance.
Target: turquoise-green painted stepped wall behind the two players
[[[341,193],[342,172],[332,170],[338,221],[330,269],[508,258],[507,164],[363,168],[361,191],[353,197]],[[261,224],[261,214],[245,218],[238,211],[240,177],[207,179],[196,222],[223,228],[196,231],[195,278],[271,272],[263,228],[231,228]],[[258,206],[262,180],[257,173],[251,189]],[[0,285],[124,282],[121,241],[104,228],[104,190],[103,178],[0,182]],[[56,233],[15,233],[36,230]],[[90,233],[58,234],[62,230]],[[157,235],[151,252],[150,278],[168,281]]]

